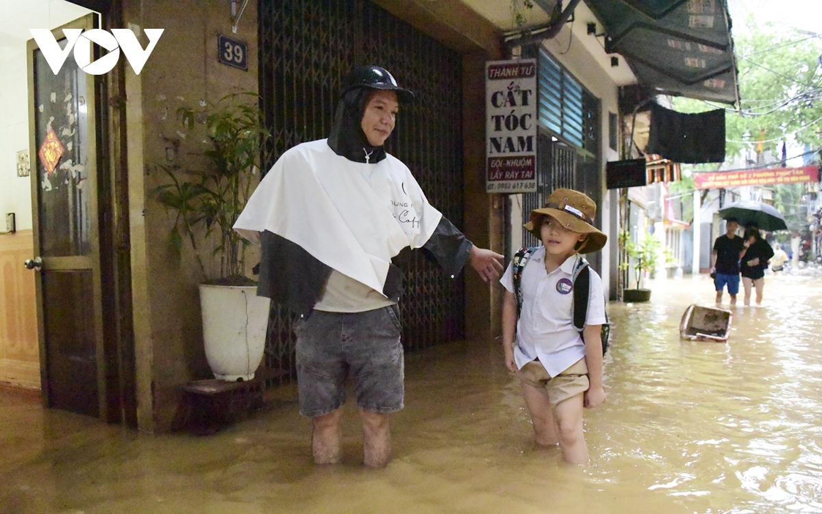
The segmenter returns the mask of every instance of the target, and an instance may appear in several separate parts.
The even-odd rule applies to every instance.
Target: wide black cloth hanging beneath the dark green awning
[[[680,163],[725,160],[725,109],[677,113],[651,104],[651,130],[645,152]]]

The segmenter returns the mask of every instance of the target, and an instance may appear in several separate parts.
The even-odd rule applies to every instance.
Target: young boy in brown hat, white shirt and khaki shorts
[[[573,282],[578,253],[603,248],[607,236],[593,226],[597,206],[581,192],[557,189],[542,209],[531,211],[525,225],[543,242],[525,262],[520,276],[518,319],[513,266],[501,283],[507,289],[502,308],[502,344],[506,366],[520,378],[525,404],[539,445],[559,442],[562,456],[574,464],[588,462],[583,408],[605,401],[603,282],[590,272],[589,304],[580,334],[572,318]]]

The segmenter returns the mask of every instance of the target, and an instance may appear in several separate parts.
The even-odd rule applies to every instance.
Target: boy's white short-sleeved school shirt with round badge
[[[568,257],[556,270],[545,271],[545,247],[539,247],[529,257],[520,277],[522,312],[517,322],[514,359],[522,368],[539,359],[552,377],[570,368],[585,356],[582,335],[572,318],[573,294],[571,276],[578,255]],[[589,266],[590,294],[586,325],[602,325],[605,320],[603,280]],[[500,279],[503,287],[514,292],[512,265]]]

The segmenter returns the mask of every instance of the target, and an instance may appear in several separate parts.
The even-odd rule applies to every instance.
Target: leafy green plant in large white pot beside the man
[[[169,183],[152,192],[175,215],[169,234],[174,252],[179,257],[187,242],[205,276],[200,285],[205,356],[215,377],[229,381],[254,377],[266,340],[269,299],[256,296],[256,284],[246,276],[249,242],[233,229],[258,182],[261,146],[269,137],[256,98],[235,94],[201,111],[178,109],[189,131],[205,125],[206,165],[186,173],[158,165]]]

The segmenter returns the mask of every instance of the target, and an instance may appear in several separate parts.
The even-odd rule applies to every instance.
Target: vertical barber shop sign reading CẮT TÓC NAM
[[[537,190],[537,61],[485,64],[487,192]]]

